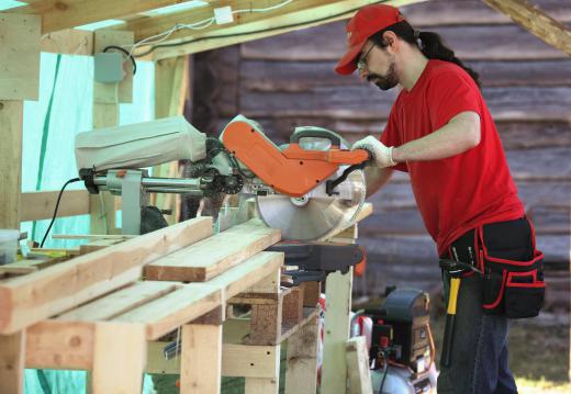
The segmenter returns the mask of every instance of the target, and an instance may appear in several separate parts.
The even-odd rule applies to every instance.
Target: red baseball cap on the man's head
[[[404,21],[398,8],[387,4],[371,4],[361,8],[347,23],[347,53],[335,66],[342,75],[352,74],[357,69],[355,59],[367,40],[377,32],[398,22]]]

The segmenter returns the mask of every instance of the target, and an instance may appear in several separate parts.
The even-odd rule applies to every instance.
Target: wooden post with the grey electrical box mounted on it
[[[96,31],[93,52],[101,52],[109,45],[132,44],[133,40],[133,32]],[[128,101],[128,91],[133,89],[132,76],[125,76],[121,83],[93,83],[93,128],[119,125],[119,103]],[[115,198],[111,193],[90,195],[90,219],[91,234],[119,233],[115,225]]]

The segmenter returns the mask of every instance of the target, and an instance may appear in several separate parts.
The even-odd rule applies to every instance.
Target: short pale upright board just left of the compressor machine
[[[369,368],[369,349],[365,337],[354,337],[345,346],[347,368],[349,371],[349,393],[372,393],[371,370]]]

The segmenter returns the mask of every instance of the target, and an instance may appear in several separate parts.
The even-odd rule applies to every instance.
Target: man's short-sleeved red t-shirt
[[[411,91],[401,91],[381,142],[401,146],[446,125],[464,111],[480,115],[480,144],[440,160],[408,161],[394,168],[410,173],[424,224],[438,255],[481,224],[522,217],[500,136],[472,78],[459,66],[429,60]]]

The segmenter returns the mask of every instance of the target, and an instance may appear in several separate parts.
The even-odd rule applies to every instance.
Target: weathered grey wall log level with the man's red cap
[[[562,52],[530,34],[522,34],[515,24],[438,26],[429,29],[462,60],[535,60],[566,59]],[[311,40],[307,40],[311,37]],[[478,37],[478,40],[473,40]],[[291,32],[278,37],[242,45],[246,59],[331,60],[337,61],[346,49],[345,23],[328,23],[310,30]],[[318,48],[318,50],[316,50]],[[334,64],[332,64],[333,66]]]

